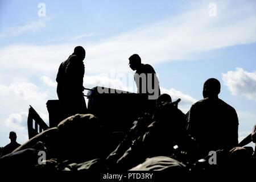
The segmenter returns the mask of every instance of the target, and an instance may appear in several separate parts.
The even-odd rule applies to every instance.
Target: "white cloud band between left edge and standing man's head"
[[[57,73],[60,63],[71,55],[74,47],[75,45],[5,47],[0,50],[0,67],[12,75],[42,76]]]

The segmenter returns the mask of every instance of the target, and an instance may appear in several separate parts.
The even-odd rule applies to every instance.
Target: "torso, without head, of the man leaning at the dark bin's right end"
[[[143,87],[142,87],[142,81],[143,80],[139,80],[139,79],[136,78],[138,75],[141,75],[142,73],[146,74],[146,84],[145,84],[146,88],[148,88],[147,87],[148,78],[150,78],[149,75],[147,75],[147,74],[151,74],[152,86],[150,86],[150,88],[154,89],[154,83],[156,82],[156,84],[158,86],[158,90],[159,90],[159,94],[158,94],[158,96],[159,96],[160,95],[160,89],[159,89],[158,77],[156,77],[156,73],[155,73],[154,68],[149,64],[141,64],[141,67],[138,68],[137,71],[134,74],[134,80],[135,80],[137,88],[138,88],[137,93],[143,93]],[[148,89],[146,90],[146,93],[148,93]]]

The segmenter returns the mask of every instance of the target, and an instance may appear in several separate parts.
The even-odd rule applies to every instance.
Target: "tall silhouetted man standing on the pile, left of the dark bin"
[[[87,113],[84,100],[85,49],[77,46],[71,56],[60,64],[57,73],[57,95],[63,110],[63,117]]]

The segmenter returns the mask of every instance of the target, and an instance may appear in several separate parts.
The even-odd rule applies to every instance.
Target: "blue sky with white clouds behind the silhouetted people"
[[[38,16],[39,3],[46,16]],[[209,12],[216,6],[216,16]],[[212,12],[212,11],[211,11]],[[28,106],[47,122],[56,72],[77,45],[86,49],[85,86],[133,90],[128,57],[154,66],[180,109],[202,98],[209,77],[240,118],[240,139],[256,124],[255,1],[0,2],[0,146],[15,130],[27,140]],[[122,73],[122,75],[121,75]]]

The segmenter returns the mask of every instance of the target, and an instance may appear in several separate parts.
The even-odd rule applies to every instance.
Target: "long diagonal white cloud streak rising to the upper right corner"
[[[199,59],[196,55],[198,52],[256,41],[254,3],[243,3],[236,7],[236,11],[233,11],[232,4],[221,1],[216,4],[216,17],[208,15],[207,3],[199,3],[196,9],[88,47],[88,58],[97,58],[102,63],[110,60],[110,64],[114,64],[118,60],[127,60],[129,55],[137,52],[143,60],[157,64],[172,60]]]

